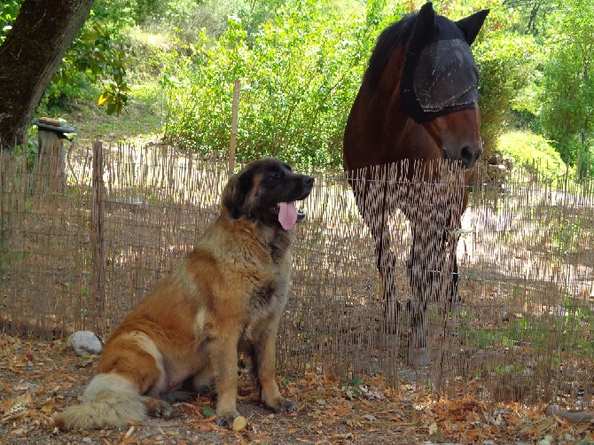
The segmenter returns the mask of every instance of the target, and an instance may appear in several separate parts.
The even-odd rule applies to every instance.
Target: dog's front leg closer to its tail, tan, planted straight
[[[210,363],[215,374],[216,387],[216,419],[219,426],[231,426],[238,417],[238,340],[236,332],[219,332],[216,339],[211,340]]]

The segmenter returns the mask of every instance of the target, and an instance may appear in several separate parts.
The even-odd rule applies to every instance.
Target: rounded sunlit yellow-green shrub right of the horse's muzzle
[[[517,168],[530,168],[543,181],[555,183],[567,174],[567,164],[542,136],[526,131],[510,131],[499,137],[497,151],[512,159]],[[573,174],[573,169],[569,169]]]

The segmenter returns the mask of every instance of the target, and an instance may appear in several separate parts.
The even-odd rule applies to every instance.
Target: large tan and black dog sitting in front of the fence
[[[231,425],[243,351],[263,405],[296,410],[275,381],[277,329],[292,266],[291,234],[278,222],[277,204],[305,199],[313,181],[273,158],[231,176],[215,223],[112,332],[82,405],[59,414],[56,425],[121,427],[147,414],[170,417],[163,399],[184,382],[197,390],[214,383],[215,422]]]

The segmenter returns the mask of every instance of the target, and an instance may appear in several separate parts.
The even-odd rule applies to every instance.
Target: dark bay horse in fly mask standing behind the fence
[[[465,185],[482,153],[478,72],[470,45],[487,14],[452,21],[427,3],[387,27],[372,51],[345,129],[344,168],[374,238],[391,332],[401,303],[388,217],[400,208],[410,222],[412,364],[431,361],[427,302],[439,301],[442,293],[457,300],[456,245],[468,200]],[[459,172],[457,188],[439,187],[444,176],[454,175],[446,170]],[[422,184],[434,188],[427,191]]]

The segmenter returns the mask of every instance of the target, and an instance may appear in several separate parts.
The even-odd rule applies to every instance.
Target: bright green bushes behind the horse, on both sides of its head
[[[436,6],[459,18],[480,9],[479,3]],[[176,76],[189,82],[168,89],[173,100],[167,136],[202,152],[225,152],[236,77],[242,79],[240,157],[268,154],[304,166],[339,168],[342,133],[375,38],[403,11],[389,14],[384,1],[369,2],[366,15],[345,15],[332,2],[278,4],[275,18],[258,32],[248,32],[236,16],[218,40],[196,43],[196,54],[184,65],[188,71]],[[241,11],[249,21],[267,17],[270,9]],[[538,61],[532,37],[504,31],[502,12],[491,16],[492,26],[473,46],[481,72],[481,133],[487,154],[496,150],[497,137],[512,121],[510,104],[534,78]],[[248,26],[254,29],[252,22]]]

